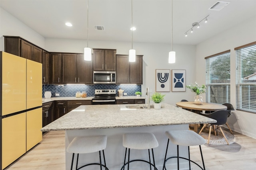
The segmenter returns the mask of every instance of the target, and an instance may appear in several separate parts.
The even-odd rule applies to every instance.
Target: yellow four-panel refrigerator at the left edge
[[[42,64],[0,52],[0,167],[42,140]]]

